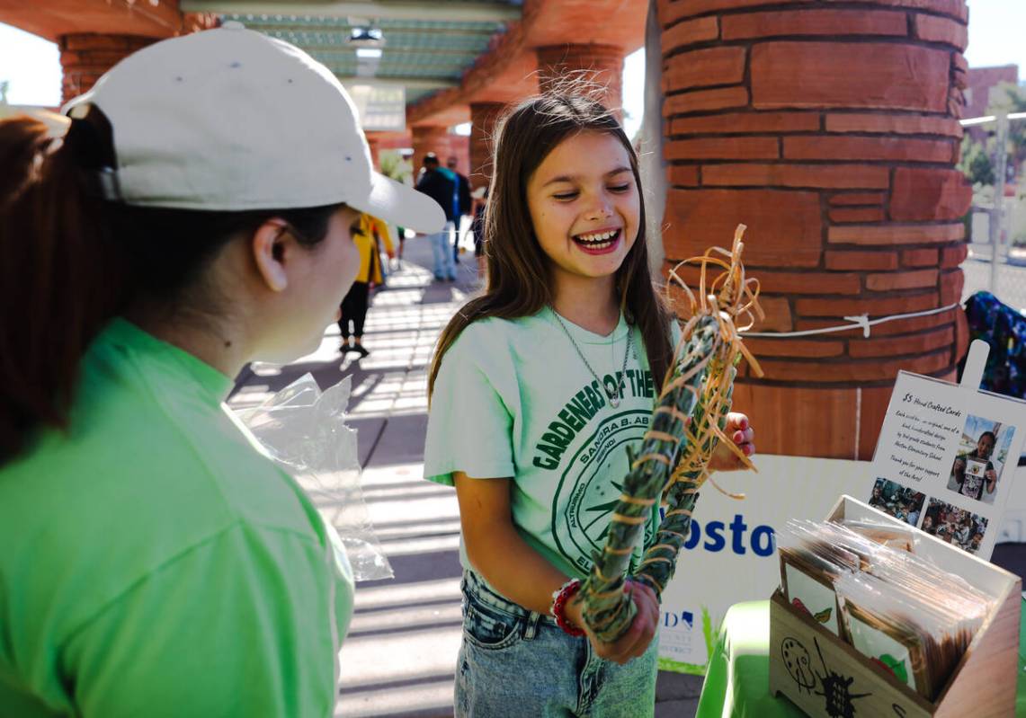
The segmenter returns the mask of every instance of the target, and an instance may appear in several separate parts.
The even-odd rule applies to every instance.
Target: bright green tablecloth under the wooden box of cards
[[[1019,625],[1016,715],[1026,717],[1026,601]],[[770,694],[770,601],[738,603],[723,617],[709,657],[696,718],[802,718],[784,697]]]

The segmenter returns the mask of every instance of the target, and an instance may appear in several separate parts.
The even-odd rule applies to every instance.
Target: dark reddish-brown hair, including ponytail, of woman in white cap
[[[0,467],[40,427],[67,426],[79,363],[134,300],[168,314],[196,303],[208,262],[279,216],[317,244],[340,205],[243,212],[134,207],[102,198],[113,130],[92,108],[61,138],[0,120]]]

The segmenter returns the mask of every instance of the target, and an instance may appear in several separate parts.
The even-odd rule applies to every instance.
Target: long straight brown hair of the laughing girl
[[[468,324],[486,317],[527,317],[552,304],[549,260],[535,236],[527,209],[527,180],[559,143],[584,130],[605,132],[624,146],[641,195],[637,155],[617,119],[598,103],[575,94],[546,93],[515,108],[497,126],[495,173],[484,212],[488,257],[484,293],[468,302],[438,338],[428,376],[430,398],[445,352]],[[657,384],[672,358],[671,315],[648,272],[644,198],[638,236],[617,270],[621,310],[641,329],[648,365]]]

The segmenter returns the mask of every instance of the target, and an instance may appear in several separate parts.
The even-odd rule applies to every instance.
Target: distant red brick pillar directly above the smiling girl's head
[[[545,92],[567,78],[598,85],[597,99],[617,115],[623,106],[624,50],[616,45],[547,45],[538,54],[538,84]]]

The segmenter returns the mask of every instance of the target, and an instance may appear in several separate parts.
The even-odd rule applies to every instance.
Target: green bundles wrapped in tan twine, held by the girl
[[[630,456],[631,470],[609,522],[606,545],[595,556],[581,589],[585,623],[602,641],[616,641],[634,620],[636,608],[630,594],[624,593],[624,574],[652,506],[662,498],[666,514],[634,577],[662,597],[690,530],[699,488],[709,478],[709,460],[718,442],[723,440],[746,467],[754,469],[723,434],[738,362],[744,357],[752,371],[762,375],[739,335],[755,323],[756,316],[763,316],[757,301],[758,281],[746,279],[741,264],[744,231],[745,226],[739,225],[729,252],[712,247],[670,272],[670,281],[686,292],[690,319],[674,349],[641,447]],[[684,264],[701,267],[698,296],[677,274]],[[708,282],[709,271],[717,268],[723,271]],[[738,319],[746,324],[739,328]]]

